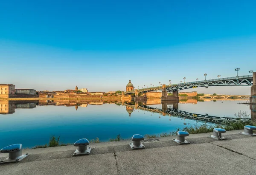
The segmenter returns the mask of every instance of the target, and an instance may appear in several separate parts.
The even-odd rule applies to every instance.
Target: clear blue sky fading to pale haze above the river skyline
[[[0,83],[89,91],[256,71],[255,0],[6,0]],[[194,89],[192,89],[194,90]],[[250,94],[249,87],[198,88]]]

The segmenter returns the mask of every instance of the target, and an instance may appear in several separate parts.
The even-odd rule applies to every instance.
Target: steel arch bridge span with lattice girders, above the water
[[[244,76],[233,76],[221,79],[209,79],[204,81],[196,82],[186,82],[179,83],[174,85],[166,85],[166,90],[168,92],[174,92],[183,89],[189,88],[200,88],[200,87],[211,87],[211,86],[252,86],[253,85],[253,76],[244,75]],[[163,90],[163,86],[151,87],[151,88],[142,88],[138,89],[138,93],[147,93],[150,91]],[[124,94],[135,93],[135,90],[130,90],[124,92]],[[122,93],[119,93],[122,94]]]

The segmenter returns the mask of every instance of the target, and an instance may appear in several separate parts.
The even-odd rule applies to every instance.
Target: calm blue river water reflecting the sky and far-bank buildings
[[[234,113],[240,110],[250,115],[249,105],[237,104],[246,101],[179,103],[178,109],[191,113],[207,113],[210,116],[234,117]],[[177,128],[183,128],[184,123],[192,125],[197,122],[133,109],[122,103],[117,105],[115,103],[102,104],[103,102],[90,102],[89,104],[88,102],[76,102],[78,103],[76,105],[70,102],[9,101],[7,103],[11,113],[3,114],[3,110],[6,110],[5,103],[6,101],[1,102],[0,147],[15,143],[21,143],[23,147],[44,145],[49,142],[50,135],[60,136],[60,141],[63,143],[74,143],[80,138],[91,140],[96,137],[100,141],[109,141],[118,134],[127,139],[134,134],[170,133]],[[60,104],[65,104],[65,106]],[[148,104],[148,106],[162,108],[162,104]],[[172,104],[168,105],[168,107],[172,106]]]

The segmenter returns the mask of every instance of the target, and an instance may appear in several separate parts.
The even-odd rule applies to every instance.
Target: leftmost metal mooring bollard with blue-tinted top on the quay
[[[0,150],[1,153],[9,153],[9,157],[1,160],[0,164],[11,163],[11,162],[19,162],[23,158],[29,155],[29,153],[22,155],[22,144],[12,144],[7,147],[4,147]]]

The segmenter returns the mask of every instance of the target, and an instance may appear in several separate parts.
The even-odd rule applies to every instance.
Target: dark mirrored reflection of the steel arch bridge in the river
[[[126,104],[125,106],[133,107],[135,108],[135,105],[133,104]],[[162,109],[157,109],[154,107],[149,107],[147,105],[138,105],[137,109],[149,111],[151,113],[159,113],[160,115],[163,114],[163,112],[166,113],[166,115],[178,117],[182,119],[190,119],[195,121],[204,121],[209,123],[215,123],[215,124],[230,124],[233,122],[239,122],[239,121],[250,121],[250,118],[235,118],[235,117],[218,117],[218,116],[209,116],[204,114],[198,114],[198,113],[189,113],[183,110],[168,108],[166,111],[163,111]]]

